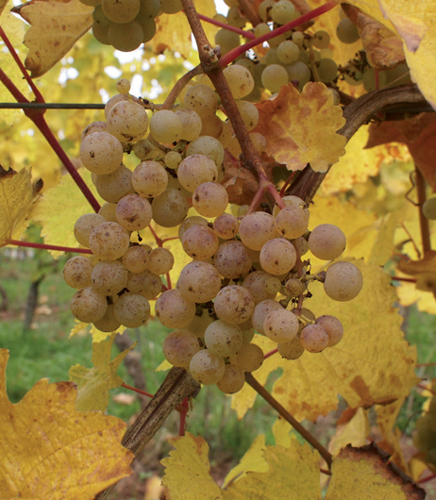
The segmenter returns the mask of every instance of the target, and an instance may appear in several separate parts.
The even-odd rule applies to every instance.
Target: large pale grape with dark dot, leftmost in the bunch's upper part
[[[93,132],[80,145],[80,160],[94,174],[110,174],[123,162],[123,146],[108,132]]]

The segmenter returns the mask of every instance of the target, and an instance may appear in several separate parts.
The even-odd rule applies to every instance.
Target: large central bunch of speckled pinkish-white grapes
[[[244,88],[240,94],[250,91],[247,79],[232,85],[236,92]],[[163,342],[165,358],[229,394],[243,387],[245,372],[263,363],[262,349],[252,342],[255,332],[276,342],[286,359],[336,345],[341,322],[316,318],[302,306],[314,279],[334,300],[359,293],[359,269],[336,260],[346,244],[342,231],[330,224],[309,231],[308,207],[296,196],[285,196],[285,207],[273,213],[246,207],[230,213],[219,182],[223,145],[200,135],[202,118],[214,116],[216,100],[188,91],[180,109],[159,110],[149,119],[129,88],[128,81],[118,82],[122,93],[107,103],[106,122],[94,122],[82,134],[80,159],[106,203],[74,227],[92,256],[65,265],[65,281],[78,290],[73,315],[104,332],[136,328],[147,322],[149,301],[156,299],[156,318],[174,329]],[[123,164],[124,151],[131,150],[140,160],[133,171]],[[154,159],[146,159],[150,155]],[[191,206],[198,215],[187,217]],[[192,259],[174,289],[162,280],[174,266],[171,252],[137,243],[153,221],[178,227]],[[325,273],[310,275],[310,261],[301,259],[308,251],[334,262]]]

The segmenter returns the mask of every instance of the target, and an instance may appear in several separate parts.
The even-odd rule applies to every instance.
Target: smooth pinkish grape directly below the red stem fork
[[[280,236],[274,225],[274,217],[266,212],[253,212],[246,215],[239,224],[242,243],[252,250],[261,250],[272,238]]]

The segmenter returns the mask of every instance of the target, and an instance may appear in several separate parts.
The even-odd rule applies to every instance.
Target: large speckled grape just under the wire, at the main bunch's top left
[[[107,116],[107,128],[121,142],[136,141],[147,132],[148,116],[136,102],[120,101]]]

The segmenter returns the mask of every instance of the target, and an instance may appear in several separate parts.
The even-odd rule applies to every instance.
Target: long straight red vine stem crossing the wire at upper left
[[[26,97],[20,92],[20,90],[15,86],[12,80],[6,75],[6,73],[1,68],[0,68],[0,81],[9,90],[9,92],[13,95],[13,97],[17,102],[21,103],[29,102],[29,100],[26,99]],[[68,173],[71,175],[74,182],[77,184],[78,188],[82,191],[83,195],[88,200],[91,207],[94,209],[95,212],[98,212],[100,210],[100,204],[92,194],[89,187],[86,185],[85,181],[82,179],[82,177],[80,177],[80,174],[77,172],[76,167],[68,158],[67,154],[62,149],[62,146],[59,144],[58,140],[54,136],[50,127],[47,125],[47,122],[45,121],[43,116],[44,110],[24,109],[23,112],[38,127],[39,131],[42,133],[46,141],[52,147],[53,151],[61,160],[64,167],[67,169]]]

